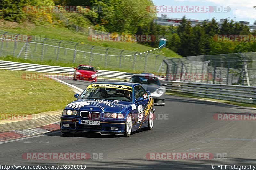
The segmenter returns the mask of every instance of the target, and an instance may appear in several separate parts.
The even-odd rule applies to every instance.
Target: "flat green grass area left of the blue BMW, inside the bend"
[[[3,114],[56,111],[75,100],[70,87],[51,79],[24,79],[24,73],[28,72],[0,70],[0,110]]]

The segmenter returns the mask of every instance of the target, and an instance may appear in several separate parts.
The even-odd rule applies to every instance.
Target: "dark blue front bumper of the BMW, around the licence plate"
[[[62,132],[95,132],[102,135],[123,135],[125,132],[125,120],[103,120],[97,119],[100,121],[100,125],[80,125],[79,119],[81,120],[92,120],[85,119],[80,117],[69,117],[61,116],[60,118],[60,129]],[[96,120],[96,119],[95,119]],[[68,127],[63,127],[63,124],[69,124]],[[118,128],[118,130],[110,130],[111,127]]]

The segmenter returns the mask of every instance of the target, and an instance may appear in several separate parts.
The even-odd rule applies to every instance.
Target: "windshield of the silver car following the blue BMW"
[[[147,85],[160,85],[158,78],[152,76],[132,76],[130,82]]]

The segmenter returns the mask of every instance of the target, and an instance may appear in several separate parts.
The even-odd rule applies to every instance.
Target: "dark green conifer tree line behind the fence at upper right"
[[[251,41],[221,41],[217,35],[256,35],[250,32],[248,26],[225,19],[222,26],[218,26],[213,18],[210,22],[204,21],[201,25],[192,26],[185,17],[179,26],[150,26],[139,28],[137,34],[160,35],[167,39],[167,48],[182,56],[213,55],[236,52],[255,52],[256,40]],[[162,36],[161,36],[162,35]],[[157,47],[158,42],[143,42]]]

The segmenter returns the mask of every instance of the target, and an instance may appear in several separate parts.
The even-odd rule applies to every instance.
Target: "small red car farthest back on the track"
[[[76,69],[74,76],[73,76],[73,80],[87,80],[87,81],[97,81],[97,72],[95,71],[94,68],[90,65],[84,65],[81,64],[78,67],[75,67],[74,69]]]

